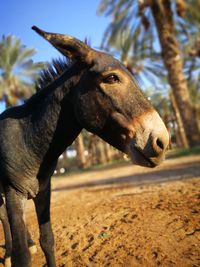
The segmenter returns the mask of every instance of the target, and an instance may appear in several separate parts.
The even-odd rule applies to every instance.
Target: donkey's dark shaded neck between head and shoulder
[[[79,78],[77,66],[72,66],[27,102],[32,113],[26,137],[39,160],[56,159],[81,131],[70,99]]]

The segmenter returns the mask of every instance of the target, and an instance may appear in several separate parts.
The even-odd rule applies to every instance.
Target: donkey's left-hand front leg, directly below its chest
[[[12,234],[12,267],[30,267],[27,229],[23,219],[25,198],[12,187],[7,188],[5,196]]]

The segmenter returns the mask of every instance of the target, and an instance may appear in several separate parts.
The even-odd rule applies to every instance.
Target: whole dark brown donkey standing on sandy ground
[[[40,245],[55,267],[50,222],[51,176],[59,155],[83,128],[128,154],[133,163],[155,167],[169,143],[168,131],[129,71],[111,55],[63,34],[36,26],[71,64],[44,72],[42,89],[0,115],[0,183],[12,236],[13,267],[31,266],[24,202],[33,199]],[[56,68],[56,70],[55,70]],[[60,75],[58,69],[61,69]],[[2,202],[2,199],[0,200]],[[3,202],[2,202],[3,203]]]

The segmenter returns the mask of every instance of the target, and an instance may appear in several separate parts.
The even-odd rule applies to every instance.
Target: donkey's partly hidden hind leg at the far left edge
[[[12,252],[12,238],[11,238],[11,233],[10,233],[10,225],[8,221],[8,215],[6,211],[6,206],[3,203],[3,198],[0,195],[0,220],[2,221],[3,225],[3,231],[4,231],[4,238],[5,238],[5,267],[10,267],[11,266],[11,252]]]

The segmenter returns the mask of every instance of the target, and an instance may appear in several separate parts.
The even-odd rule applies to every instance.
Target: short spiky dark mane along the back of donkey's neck
[[[51,63],[47,64],[47,68],[40,72],[40,77],[36,81],[36,91],[40,91],[48,84],[56,80],[65,70],[69,69],[72,65],[72,61],[63,57],[53,59]]]

